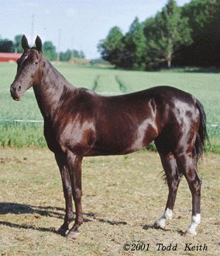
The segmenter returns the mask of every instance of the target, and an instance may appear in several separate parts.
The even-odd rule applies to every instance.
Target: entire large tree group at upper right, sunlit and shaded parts
[[[220,66],[220,1],[192,0],[182,7],[168,0],[143,23],[123,34],[114,26],[98,51],[117,68],[153,70],[171,66]]]

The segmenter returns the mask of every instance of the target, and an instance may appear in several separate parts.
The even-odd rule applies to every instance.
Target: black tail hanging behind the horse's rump
[[[205,140],[207,140],[209,144],[210,142],[206,130],[206,114],[204,107],[198,100],[196,100],[196,107],[198,108],[200,113],[200,124],[193,149],[193,158],[195,163],[197,164],[198,160],[202,157],[202,153],[205,151]]]

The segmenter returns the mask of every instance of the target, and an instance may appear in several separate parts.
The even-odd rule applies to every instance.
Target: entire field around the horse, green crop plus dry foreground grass
[[[152,228],[163,214],[168,189],[158,154],[142,151],[84,158],[81,235],[75,241],[60,237],[56,230],[64,221],[63,188],[53,153],[46,148],[43,123],[0,121],[0,254],[219,255],[220,127],[211,125],[220,124],[220,75],[55,67],[74,86],[99,93],[132,93],[167,85],[201,101],[212,146],[198,166],[203,180],[198,236],[182,236],[191,223],[191,193],[184,177],[167,230]],[[32,89],[22,101],[12,100],[9,86],[15,72],[15,64],[0,63],[0,119],[43,121]],[[125,244],[131,246],[129,251],[123,249]],[[163,244],[163,249],[171,244],[177,251],[162,251],[162,245],[157,251],[157,244]],[[186,244],[208,250],[184,251]],[[145,250],[137,251],[140,246]]]

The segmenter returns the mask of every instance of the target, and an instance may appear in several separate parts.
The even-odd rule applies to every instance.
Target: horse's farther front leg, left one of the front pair
[[[64,198],[66,202],[66,214],[64,218],[64,224],[60,226],[60,229],[57,233],[60,233],[62,236],[65,236],[67,230],[69,230],[69,224],[74,220],[73,213],[73,203],[72,203],[72,186],[70,182],[70,175],[67,167],[67,156],[64,154],[55,154],[58,167],[60,169],[60,174],[62,178],[63,188],[64,188]]]

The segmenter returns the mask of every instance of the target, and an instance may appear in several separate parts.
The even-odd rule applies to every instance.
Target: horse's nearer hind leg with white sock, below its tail
[[[191,226],[186,230],[185,234],[196,235],[196,227],[200,223],[200,198],[201,198],[201,178],[194,165],[191,153],[181,153],[176,156],[177,166],[187,179],[187,183],[192,195],[192,217]]]

